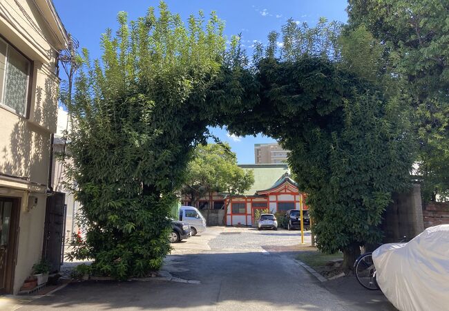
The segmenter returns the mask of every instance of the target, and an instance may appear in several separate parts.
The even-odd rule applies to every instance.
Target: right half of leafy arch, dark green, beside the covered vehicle
[[[289,166],[308,195],[318,248],[349,258],[360,245],[379,242],[381,214],[392,192],[410,184],[412,136],[401,96],[384,91],[390,81],[378,66],[378,44],[363,28],[331,40],[339,30],[329,35],[333,26],[319,27],[312,33],[326,35],[312,37],[306,50],[284,45],[278,57],[261,50],[267,57],[253,68],[260,103],[240,111],[245,122],[225,122],[233,133],[262,132],[291,151]],[[287,28],[295,36],[310,31]],[[365,68],[362,59],[350,62],[348,46],[357,42],[367,54],[377,51],[368,63],[375,68]]]

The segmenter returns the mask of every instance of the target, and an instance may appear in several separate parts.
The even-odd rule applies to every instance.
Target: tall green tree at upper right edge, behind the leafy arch
[[[385,46],[414,111],[424,200],[449,194],[448,0],[350,0],[349,27],[361,25]]]

